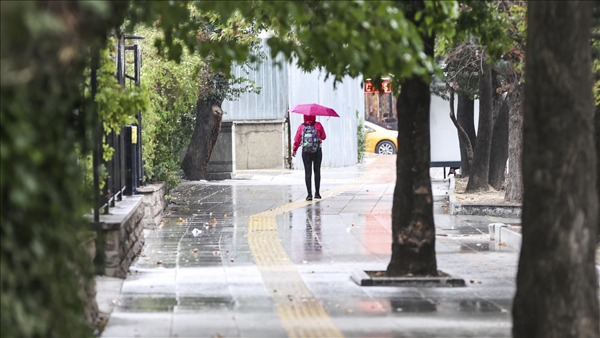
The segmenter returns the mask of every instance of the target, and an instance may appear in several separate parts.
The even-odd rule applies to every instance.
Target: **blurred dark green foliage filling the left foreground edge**
[[[76,143],[85,143],[81,83],[124,15],[113,2],[0,3],[0,330],[6,337],[83,337],[79,284],[92,275],[81,247]],[[89,196],[91,198],[91,196]],[[88,204],[89,205],[89,204]]]

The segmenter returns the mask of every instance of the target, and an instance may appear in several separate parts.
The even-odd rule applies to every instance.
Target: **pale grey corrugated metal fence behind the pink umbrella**
[[[267,39],[263,48],[270,55]],[[246,74],[241,67],[234,67],[233,74],[256,81],[262,88],[260,95],[247,93],[239,100],[223,103],[224,120],[280,120],[285,118],[286,108],[296,104],[316,103],[333,108],[340,118],[317,118],[323,124],[327,139],[323,143],[323,166],[351,166],[357,161],[356,111],[364,116],[365,95],[362,78],[344,78],[333,88],[333,78],[315,70],[306,73],[295,65],[278,67],[272,58],[264,60],[256,70]],[[292,143],[297,127],[303,122],[302,115],[291,113]],[[287,136],[285,136],[287,140]],[[303,169],[301,156],[294,159],[294,168]]]

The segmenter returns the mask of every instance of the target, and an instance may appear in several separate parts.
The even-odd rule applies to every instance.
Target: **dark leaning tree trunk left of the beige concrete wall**
[[[196,105],[196,126],[188,152],[181,164],[185,177],[192,180],[204,179],[210,155],[217,142],[223,111],[221,101],[199,99]]]

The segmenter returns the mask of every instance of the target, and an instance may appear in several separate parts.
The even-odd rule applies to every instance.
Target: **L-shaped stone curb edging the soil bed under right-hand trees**
[[[492,216],[502,218],[521,218],[521,204],[463,204],[456,200],[454,188],[456,180],[450,179],[448,195],[451,215]]]

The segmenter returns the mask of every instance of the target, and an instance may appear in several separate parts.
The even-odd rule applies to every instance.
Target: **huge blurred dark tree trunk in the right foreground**
[[[591,1],[530,1],[515,337],[599,337]]]

